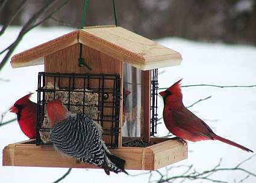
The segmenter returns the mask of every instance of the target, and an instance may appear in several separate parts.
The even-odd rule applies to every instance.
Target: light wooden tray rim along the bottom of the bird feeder
[[[155,144],[146,148],[121,147],[110,151],[125,159],[125,169],[131,170],[157,170],[187,158],[187,145],[177,140],[151,138],[151,141]],[[36,146],[34,143],[34,139],[31,139],[5,146],[3,166],[98,168],[65,157],[51,145]]]

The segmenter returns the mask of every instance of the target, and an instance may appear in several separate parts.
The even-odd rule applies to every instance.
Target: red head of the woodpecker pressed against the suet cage
[[[51,127],[59,121],[67,118],[67,109],[60,100],[50,100],[46,104],[46,112],[51,124]]]

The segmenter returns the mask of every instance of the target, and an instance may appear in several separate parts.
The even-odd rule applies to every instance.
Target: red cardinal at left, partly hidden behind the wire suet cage
[[[17,121],[22,132],[30,139],[36,137],[37,104],[30,101],[30,95],[25,95],[14,103],[10,112],[16,113]]]

